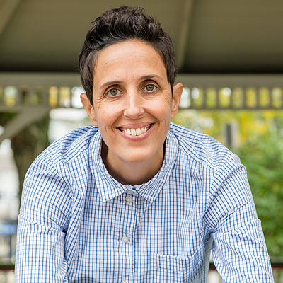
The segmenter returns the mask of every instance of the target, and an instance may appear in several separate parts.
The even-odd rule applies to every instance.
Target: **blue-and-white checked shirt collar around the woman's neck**
[[[149,202],[154,202],[161,191],[163,185],[167,182],[175,164],[178,154],[178,141],[169,131],[166,136],[166,154],[158,173],[151,178],[149,182],[141,185],[122,185],[112,178],[104,166],[100,156],[102,138],[98,131],[89,144],[89,164],[91,173],[96,183],[96,187],[103,202],[107,202],[118,195],[122,195],[125,190],[135,190]]]

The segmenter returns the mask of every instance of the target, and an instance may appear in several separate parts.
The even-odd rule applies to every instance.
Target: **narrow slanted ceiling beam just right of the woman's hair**
[[[185,64],[185,52],[187,47],[187,41],[190,35],[192,6],[193,6],[193,0],[185,0],[183,15],[181,18],[179,41],[177,45],[178,50],[176,53],[177,67],[179,71],[183,71],[183,66]]]

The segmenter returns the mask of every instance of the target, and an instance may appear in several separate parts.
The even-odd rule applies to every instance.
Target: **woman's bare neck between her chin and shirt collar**
[[[108,147],[104,144],[101,149],[101,157],[108,173],[122,185],[140,185],[148,182],[158,173],[164,159],[165,147],[162,154],[141,162],[128,162],[122,160],[109,161]]]

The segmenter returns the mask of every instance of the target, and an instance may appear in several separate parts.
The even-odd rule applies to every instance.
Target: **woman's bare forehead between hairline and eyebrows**
[[[158,74],[167,81],[166,68],[158,52],[141,40],[117,42],[101,50],[96,57],[93,81],[138,79]],[[94,86],[93,86],[94,87]]]

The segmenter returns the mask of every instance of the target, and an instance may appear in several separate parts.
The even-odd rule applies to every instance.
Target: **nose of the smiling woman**
[[[128,93],[125,98],[124,115],[131,119],[137,119],[144,114],[143,99],[139,93]]]

